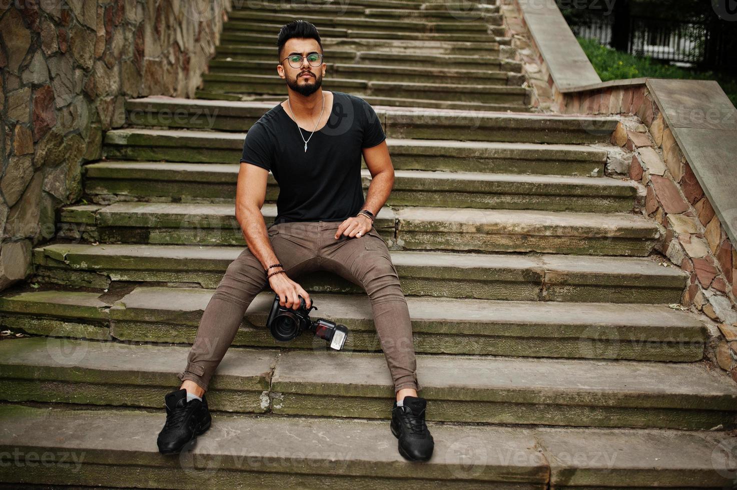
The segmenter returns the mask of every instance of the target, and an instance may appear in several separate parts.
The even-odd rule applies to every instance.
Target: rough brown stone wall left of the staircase
[[[0,290],[24,279],[125,99],[194,97],[231,0],[0,0]]]

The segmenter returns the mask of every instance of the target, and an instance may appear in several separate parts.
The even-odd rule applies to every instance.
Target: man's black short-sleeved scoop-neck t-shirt
[[[343,221],[363,206],[361,150],[386,136],[368,102],[345,92],[332,94],[328,122],[311,138],[312,129],[298,127],[281,104],[246,133],[241,163],[270,170],[279,183],[274,223]]]

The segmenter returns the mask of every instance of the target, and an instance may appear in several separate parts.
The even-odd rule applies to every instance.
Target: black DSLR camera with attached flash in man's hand
[[[269,316],[266,319],[266,326],[271,331],[271,335],[280,342],[292,340],[305,330],[309,330],[315,337],[325,339],[330,349],[336,351],[343,349],[343,344],[346,343],[346,337],[348,337],[346,326],[338,325],[324,318],[311,321],[310,310],[313,308],[317,309],[314,304],[309,309],[307,308],[301,295],[299,296],[298,309],[282,307],[279,304],[279,295],[275,295]]]

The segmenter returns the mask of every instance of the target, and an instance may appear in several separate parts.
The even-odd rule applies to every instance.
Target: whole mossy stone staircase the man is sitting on
[[[375,226],[429,400],[422,466],[388,427],[370,302],[327,273],[294,279],[349,328],[346,349],[276,343],[273,293],[259,293],[212,379],[212,428],[179,457],[156,449],[163,396],[245,245],[237,161],[285,97],[263,72],[295,16],[325,36],[324,88],[364,97],[388,137],[396,179]],[[657,252],[642,186],[604,174],[617,119],[529,113],[496,6],[360,0],[230,19],[200,99],[129,100],[128,125],[84,167],[85,201],[34,250],[32,281],[0,295],[1,325],[27,334],[0,341],[0,454],[57,458],[0,465],[1,482],[734,488],[737,386],[706,356],[708,318],[678,307],[688,276]],[[428,61],[442,77],[417,77]],[[269,175],[267,225],[277,194]]]

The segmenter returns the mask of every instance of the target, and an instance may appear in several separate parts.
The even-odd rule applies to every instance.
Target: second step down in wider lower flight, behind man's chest
[[[105,133],[103,152],[108,160],[236,164],[244,139],[245,133],[131,127]],[[606,149],[580,144],[395,138],[386,144],[398,170],[598,176],[607,164]]]

